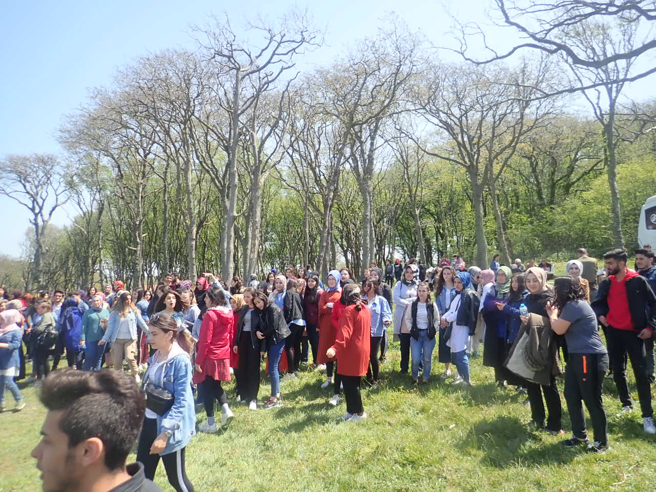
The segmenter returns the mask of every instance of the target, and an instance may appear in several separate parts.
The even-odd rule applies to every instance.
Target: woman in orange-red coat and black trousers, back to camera
[[[335,344],[326,351],[326,356],[339,360],[337,372],[342,377],[346,399],[344,420],[358,421],[367,418],[362,407],[360,378],[369,366],[371,316],[367,306],[361,303],[358,285],[344,285],[342,299],[346,308],[339,321]]]

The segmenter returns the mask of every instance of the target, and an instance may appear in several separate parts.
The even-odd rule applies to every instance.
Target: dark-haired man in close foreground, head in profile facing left
[[[146,409],[133,378],[66,369],[45,379],[39,398],[48,413],[31,456],[44,492],[161,492],[143,464],[125,464]]]

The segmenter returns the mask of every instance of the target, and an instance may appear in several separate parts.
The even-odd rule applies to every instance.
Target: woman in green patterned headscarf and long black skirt
[[[510,318],[497,308],[497,304],[507,304],[510,297],[510,284],[512,272],[507,266],[500,266],[497,270],[497,282],[489,289],[483,301],[483,319],[485,319],[485,344],[483,346],[483,365],[493,367],[495,381],[499,388],[506,386],[506,373],[504,367],[504,353],[506,340],[510,327]]]

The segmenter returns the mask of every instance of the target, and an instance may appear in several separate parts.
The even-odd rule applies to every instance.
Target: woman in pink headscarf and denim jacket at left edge
[[[5,411],[5,388],[8,388],[16,401],[15,411],[25,408],[25,400],[14,381],[18,375],[18,348],[22,343],[23,315],[20,314],[20,300],[7,302],[7,308],[0,312],[0,411]]]

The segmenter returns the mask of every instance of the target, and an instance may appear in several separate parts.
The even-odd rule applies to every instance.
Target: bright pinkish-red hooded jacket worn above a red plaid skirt
[[[232,309],[211,308],[205,312],[196,344],[196,363],[203,367],[205,359],[230,358],[230,333],[234,325]]]

